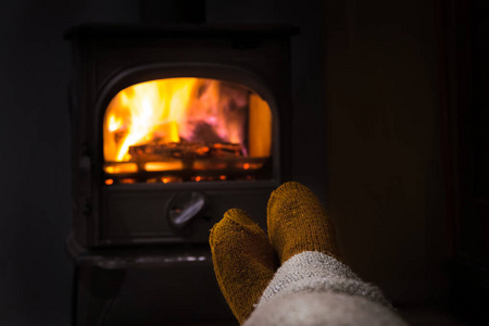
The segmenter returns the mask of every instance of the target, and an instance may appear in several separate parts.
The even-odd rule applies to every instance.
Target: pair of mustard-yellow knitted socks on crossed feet
[[[304,251],[338,258],[333,225],[318,199],[301,184],[287,183],[272,192],[267,228],[268,236],[244,211],[233,209],[211,229],[217,283],[240,324],[288,259]]]

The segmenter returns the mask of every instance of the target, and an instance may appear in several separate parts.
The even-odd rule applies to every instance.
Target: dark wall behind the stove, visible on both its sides
[[[79,23],[137,23],[139,3],[0,8],[0,324],[68,325],[63,33]],[[344,261],[406,310],[447,306],[446,263],[456,253],[440,8],[436,0],[206,1],[210,23],[300,27],[291,49],[293,178],[327,204]]]

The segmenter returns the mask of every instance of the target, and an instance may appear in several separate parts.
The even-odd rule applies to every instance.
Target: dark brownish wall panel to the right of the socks
[[[440,302],[451,247],[437,1],[327,3],[327,200],[340,248],[394,302]]]

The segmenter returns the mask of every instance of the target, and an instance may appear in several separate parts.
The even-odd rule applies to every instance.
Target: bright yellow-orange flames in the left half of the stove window
[[[130,159],[130,146],[154,139],[178,142],[198,78],[172,78],[133,85],[120,91],[105,114],[105,161]],[[112,141],[111,141],[112,140]]]

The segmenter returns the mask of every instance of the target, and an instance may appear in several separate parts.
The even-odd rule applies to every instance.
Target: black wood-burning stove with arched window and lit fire
[[[269,192],[289,172],[294,32],[67,33],[76,325],[233,319],[212,273],[209,229],[235,206],[266,225]]]

